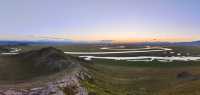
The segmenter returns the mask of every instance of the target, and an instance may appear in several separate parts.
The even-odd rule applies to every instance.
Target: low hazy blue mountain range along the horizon
[[[69,45],[69,44],[112,44],[112,41],[96,41],[96,42],[87,42],[87,41],[73,41],[73,40],[38,40],[38,41],[0,41],[0,45]],[[200,46],[200,41],[191,41],[191,42],[138,42],[138,43],[129,43],[140,46]]]

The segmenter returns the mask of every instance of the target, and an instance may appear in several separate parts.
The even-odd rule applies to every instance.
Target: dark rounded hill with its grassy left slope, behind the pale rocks
[[[24,82],[72,69],[82,60],[55,49],[42,49],[19,55],[0,56],[0,83]]]

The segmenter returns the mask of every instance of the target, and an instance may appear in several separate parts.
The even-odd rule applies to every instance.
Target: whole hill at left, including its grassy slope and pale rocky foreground
[[[85,62],[48,47],[0,58],[0,95],[87,95]]]

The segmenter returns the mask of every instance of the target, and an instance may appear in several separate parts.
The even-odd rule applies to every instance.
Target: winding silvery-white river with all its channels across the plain
[[[171,62],[171,61],[200,61],[200,57],[192,57],[192,56],[172,56],[172,57],[156,57],[156,56],[137,56],[137,57],[99,57],[99,56],[88,56],[88,55],[96,55],[96,54],[121,54],[121,53],[145,53],[145,52],[161,52],[161,51],[172,51],[169,48],[163,47],[148,47],[148,48],[139,48],[139,49],[114,49],[114,48],[100,48],[106,50],[116,50],[112,52],[64,52],[65,54],[77,54],[84,55],[79,56],[80,58],[84,58],[85,60],[92,59],[112,59],[112,60],[126,60],[126,61],[153,61],[158,60],[162,62]],[[17,49],[16,49],[17,50]],[[18,49],[19,51],[21,49]],[[123,51],[124,50],[124,51]],[[1,53],[1,55],[16,55],[18,52],[8,52]]]

